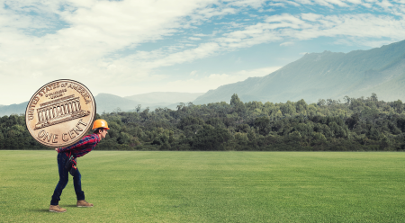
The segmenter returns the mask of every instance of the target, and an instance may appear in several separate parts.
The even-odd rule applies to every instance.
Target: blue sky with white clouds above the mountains
[[[0,0],[0,104],[51,81],[205,93],[324,50],[405,40],[405,0]]]

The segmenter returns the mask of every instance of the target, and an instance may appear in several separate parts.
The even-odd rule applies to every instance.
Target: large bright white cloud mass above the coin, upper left
[[[0,96],[0,102],[8,104],[27,101],[30,94],[41,85],[58,78],[90,83],[96,89],[95,92],[105,91],[108,85],[120,85],[129,76],[140,80],[153,79],[148,73],[148,66],[137,69],[130,65],[130,61],[113,56],[111,58],[109,54],[172,35],[186,25],[185,16],[212,2],[178,1],[175,4],[165,1],[88,1],[83,4],[77,1],[64,2],[73,10],[63,12],[58,10],[62,5],[58,2],[49,5],[21,1],[10,4],[7,9],[2,6],[0,77],[3,83],[15,83],[18,76],[19,80],[23,80],[20,85],[23,85],[26,93],[14,94],[13,98]],[[49,24],[42,22],[41,16],[21,13],[21,9],[59,16],[63,22],[67,22],[68,27],[40,37],[29,35],[27,30],[38,31],[49,28]],[[208,19],[209,16],[203,14],[202,19]],[[161,54],[159,50],[143,55],[139,53],[150,58],[161,58]],[[93,81],[86,81],[88,79]],[[5,91],[14,88],[13,85],[2,87]]]

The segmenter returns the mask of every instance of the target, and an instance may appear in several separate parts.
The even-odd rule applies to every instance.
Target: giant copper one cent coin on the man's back
[[[31,136],[46,147],[67,147],[92,128],[93,94],[74,80],[56,80],[32,95],[25,111]]]

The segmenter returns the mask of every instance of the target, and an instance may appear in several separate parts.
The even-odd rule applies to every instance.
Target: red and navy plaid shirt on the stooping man
[[[68,147],[59,147],[58,148],[58,153],[65,152],[67,156],[69,156],[69,152],[71,151],[72,154],[75,154],[76,157],[80,156],[85,156],[87,153],[92,151],[97,145],[97,143],[100,142],[100,138],[98,137],[97,134],[91,134],[88,136],[85,136],[84,138],[80,139],[80,141],[76,142],[72,146]]]

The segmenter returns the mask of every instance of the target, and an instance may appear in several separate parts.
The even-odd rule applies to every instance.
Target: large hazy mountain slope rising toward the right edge
[[[320,98],[342,99],[345,95],[376,93],[386,101],[405,99],[405,40],[381,48],[349,53],[324,51],[302,58],[263,77],[222,85],[198,97],[193,103],[229,102],[238,94],[244,102],[315,103]]]

